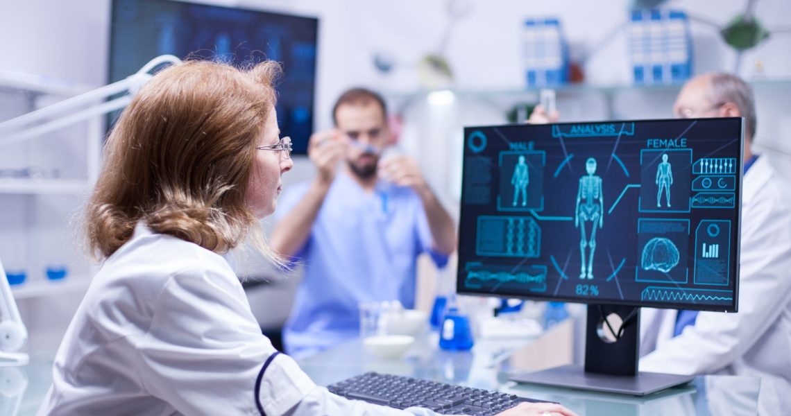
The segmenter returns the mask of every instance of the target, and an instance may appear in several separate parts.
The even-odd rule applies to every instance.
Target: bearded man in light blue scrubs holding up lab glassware
[[[335,129],[313,134],[316,178],[285,195],[272,247],[305,265],[283,331],[286,352],[305,357],[359,333],[358,305],[414,307],[418,255],[444,267],[456,249],[448,212],[410,157],[380,160],[392,142],[384,100],[350,89],[333,108]]]

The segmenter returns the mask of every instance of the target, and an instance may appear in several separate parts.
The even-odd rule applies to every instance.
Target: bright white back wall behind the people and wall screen
[[[410,93],[420,88],[414,68],[423,55],[437,50],[448,26],[447,2],[440,0],[401,0],[372,2],[369,0],[246,0],[217,1],[226,6],[244,6],[298,13],[320,18],[318,51],[318,85],[316,91],[316,127],[331,125],[330,109],[335,97],[351,85],[368,85],[388,93]],[[467,0],[469,12],[456,22],[449,38],[446,54],[456,74],[456,88],[467,90],[513,90],[524,85],[520,64],[520,27],[525,17],[557,16],[562,19],[566,36],[573,47],[573,56],[589,54],[596,49],[587,66],[589,82],[606,85],[630,83],[629,61],[626,58],[624,32],[615,32],[626,21],[628,0],[593,2],[554,0]],[[687,10],[694,17],[703,17],[724,25],[744,9],[744,0],[686,0],[669,5]],[[40,74],[59,80],[88,85],[106,82],[108,58],[109,2],[106,0],[6,0],[0,2],[0,71]],[[791,2],[762,0],[756,2],[759,19],[769,27],[791,26]],[[693,22],[694,71],[732,70],[736,54],[719,39],[717,29]],[[609,39],[607,42],[603,41]],[[600,45],[600,47],[597,47]],[[373,66],[373,54],[384,51],[395,59],[390,74],[380,74]],[[783,78],[791,80],[791,34],[773,35],[759,47],[744,54],[740,74],[746,78]],[[763,70],[758,71],[760,62]],[[758,85],[759,143],[791,149],[783,137],[791,127],[791,116],[785,110],[789,84]],[[619,93],[614,98],[614,114],[618,116],[669,116],[674,90],[641,90]],[[531,94],[509,96],[506,104],[494,102],[497,97],[467,95],[458,107],[446,112],[448,123],[428,116],[426,104],[413,102],[403,109],[407,115],[404,145],[423,154],[452,153],[452,138],[465,123],[495,123],[503,119],[502,111],[510,101],[534,100]],[[394,103],[403,102],[399,98]],[[463,105],[462,105],[463,104]],[[604,97],[596,94],[561,96],[558,106],[570,119],[595,119],[606,114]],[[13,110],[0,107],[0,119],[13,115]],[[18,111],[18,110],[17,110]],[[445,136],[428,141],[426,136]],[[424,142],[425,141],[425,142]],[[0,149],[2,151],[2,149]],[[74,150],[80,152],[81,149]],[[788,150],[791,151],[791,150]],[[456,152],[459,153],[460,152]],[[454,153],[455,154],[455,153]],[[416,153],[429,180],[446,200],[452,200],[458,178],[455,157],[431,163]],[[2,159],[0,159],[2,160]],[[286,186],[312,176],[308,161],[298,159],[293,172],[286,176]],[[9,202],[9,197],[0,199]],[[58,208],[52,207],[53,210]],[[73,210],[60,207],[60,210]],[[57,213],[64,216],[66,213]],[[6,230],[2,230],[3,233]],[[265,314],[265,312],[262,312]],[[282,313],[280,314],[282,315]],[[282,320],[282,316],[275,320]]]

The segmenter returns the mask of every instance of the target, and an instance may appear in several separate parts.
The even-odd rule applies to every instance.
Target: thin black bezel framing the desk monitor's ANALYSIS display
[[[741,236],[741,224],[742,224],[742,194],[743,194],[743,177],[744,177],[744,117],[712,117],[712,118],[695,118],[695,119],[620,119],[620,120],[604,120],[604,121],[578,121],[578,122],[568,122],[568,123],[548,123],[548,124],[528,124],[528,123],[506,123],[506,124],[490,124],[490,125],[483,125],[483,126],[466,126],[464,127],[464,140],[466,141],[467,134],[471,130],[476,129],[486,129],[486,128],[495,128],[495,127],[547,127],[548,126],[566,126],[566,125],[573,125],[573,124],[605,124],[605,123],[666,123],[666,122],[673,122],[679,123],[680,121],[684,122],[693,122],[693,121],[706,121],[711,122],[717,119],[727,119],[727,120],[739,120],[740,122],[740,144],[739,144],[739,157],[738,157],[738,164],[739,164],[739,172],[742,172],[741,175],[738,175],[738,183],[739,183],[739,191],[737,192],[737,224],[736,224],[736,233],[732,237],[733,243],[736,245],[736,257],[735,257],[735,265],[734,267],[735,274],[734,274],[734,287],[733,287],[733,301],[732,304],[726,307],[723,305],[706,305],[706,304],[673,304],[669,302],[657,302],[651,304],[645,304],[645,302],[640,301],[620,301],[620,300],[600,300],[596,298],[575,298],[575,297],[563,297],[563,296],[536,296],[532,294],[513,294],[513,293],[492,293],[487,292],[486,290],[475,290],[469,289],[464,287],[463,280],[464,280],[464,268],[461,266],[461,255],[457,256],[457,267],[456,267],[456,293],[461,295],[473,295],[473,296],[485,296],[485,297],[498,297],[498,298],[506,298],[506,299],[524,299],[524,300],[531,300],[531,301],[559,301],[559,302],[569,302],[569,303],[577,303],[577,304],[613,304],[613,305],[623,305],[623,306],[632,306],[637,308],[663,308],[663,309],[687,309],[687,310],[694,310],[694,311],[712,311],[712,312],[738,312],[739,308],[739,281],[740,281],[740,251],[741,251],[741,244],[740,244],[740,236]],[[462,175],[461,177],[464,178],[464,159],[467,151],[467,146],[462,146]],[[461,224],[462,214],[461,211],[464,207],[464,184],[461,187],[461,198],[459,203],[459,235],[457,244],[461,244],[464,240],[462,235],[465,233],[464,225]]]

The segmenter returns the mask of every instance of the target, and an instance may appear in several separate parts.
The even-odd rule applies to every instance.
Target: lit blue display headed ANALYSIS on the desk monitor
[[[742,129],[465,128],[459,293],[736,311]]]

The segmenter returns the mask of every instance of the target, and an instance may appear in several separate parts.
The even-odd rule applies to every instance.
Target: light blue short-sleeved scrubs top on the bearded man
[[[309,183],[287,190],[281,219],[305,196]],[[418,255],[444,267],[448,256],[432,250],[422,202],[409,187],[380,180],[366,193],[350,176],[335,177],[296,261],[305,266],[283,341],[286,352],[305,357],[359,335],[358,305],[399,300],[414,308]]]

